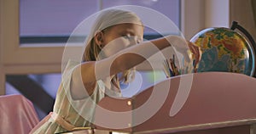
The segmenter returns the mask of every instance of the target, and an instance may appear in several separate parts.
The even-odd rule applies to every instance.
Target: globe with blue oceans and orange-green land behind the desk
[[[190,42],[201,47],[202,51],[197,72],[253,75],[255,53],[252,45],[239,32],[224,27],[208,28],[193,36]]]

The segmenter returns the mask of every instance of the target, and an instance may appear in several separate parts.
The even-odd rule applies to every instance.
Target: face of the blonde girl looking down
[[[103,57],[109,57],[142,41],[143,25],[130,23],[113,25],[102,33]]]

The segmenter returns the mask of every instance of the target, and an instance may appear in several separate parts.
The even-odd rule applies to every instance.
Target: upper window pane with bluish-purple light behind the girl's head
[[[90,14],[119,5],[138,5],[155,9],[180,26],[179,0],[20,0],[20,44],[63,45],[76,26]],[[153,36],[149,31],[150,29],[147,29],[145,32],[146,38],[149,36],[148,39]]]

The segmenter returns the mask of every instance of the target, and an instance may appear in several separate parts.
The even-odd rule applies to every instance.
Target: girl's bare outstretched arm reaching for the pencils
[[[175,43],[172,43],[174,40],[177,42],[177,36],[165,36],[150,42],[141,42],[140,44],[125,48],[107,59],[79,64],[73,71],[73,85],[84,85],[88,95],[91,95],[97,80],[104,79],[110,75],[116,75],[124,70],[129,70],[166,47],[177,47],[177,51],[187,53],[186,50],[189,49],[187,42],[182,41],[180,38],[179,41],[183,43],[179,43],[179,46],[175,46]],[[192,53],[199,53],[196,51],[193,52],[191,48],[190,50]],[[81,78],[79,77],[80,74]],[[77,89],[78,88],[76,88],[76,90]],[[79,91],[73,93],[81,95]]]

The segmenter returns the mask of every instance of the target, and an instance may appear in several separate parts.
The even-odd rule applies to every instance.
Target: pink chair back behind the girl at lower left
[[[22,95],[0,96],[0,133],[27,134],[39,122],[33,104]]]

